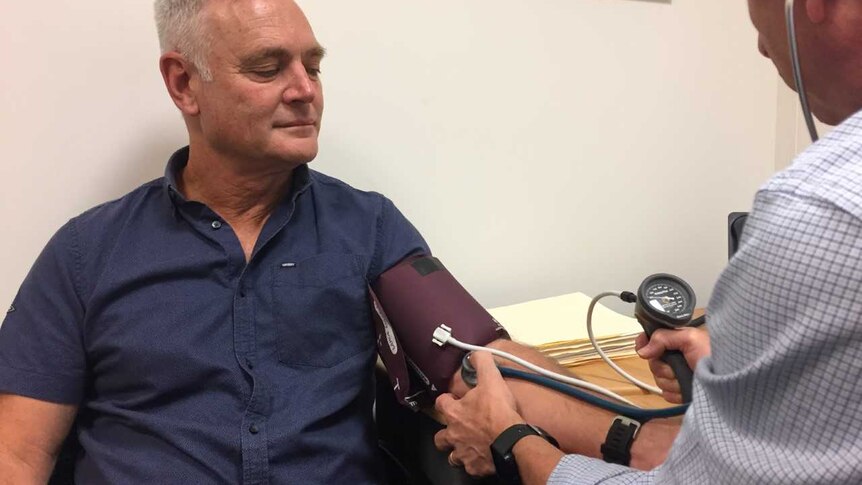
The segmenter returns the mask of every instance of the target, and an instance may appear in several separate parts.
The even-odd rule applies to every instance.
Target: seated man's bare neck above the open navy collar
[[[233,228],[249,260],[264,224],[290,191],[293,168],[244,165],[191,149],[177,182],[186,199],[206,204]]]

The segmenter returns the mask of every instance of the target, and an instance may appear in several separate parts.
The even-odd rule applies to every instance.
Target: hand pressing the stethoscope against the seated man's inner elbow
[[[470,361],[478,383],[461,399],[452,394],[437,398],[435,408],[446,428],[434,435],[434,445],[441,451],[452,450],[450,465],[463,466],[473,476],[491,475],[495,471],[491,443],[510,426],[525,421],[491,354],[474,352]]]

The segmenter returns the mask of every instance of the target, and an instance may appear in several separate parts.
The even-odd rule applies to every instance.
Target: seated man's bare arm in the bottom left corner
[[[46,483],[77,409],[0,394],[0,485]]]

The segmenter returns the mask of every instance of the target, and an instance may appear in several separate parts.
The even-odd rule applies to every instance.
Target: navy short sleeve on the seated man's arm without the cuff
[[[48,243],[0,326],[0,392],[77,404],[86,380],[73,223]]]

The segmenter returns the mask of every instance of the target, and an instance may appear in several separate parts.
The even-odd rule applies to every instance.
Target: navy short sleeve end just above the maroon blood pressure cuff
[[[381,197],[382,206],[377,218],[377,238],[369,281],[414,254],[431,254],[428,244],[419,231],[404,217],[389,199]]]

